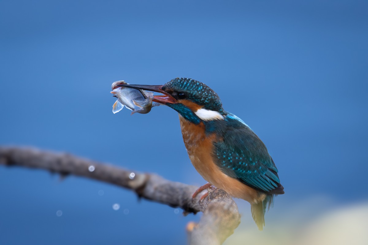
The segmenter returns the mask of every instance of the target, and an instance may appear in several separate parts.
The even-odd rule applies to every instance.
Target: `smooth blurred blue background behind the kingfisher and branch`
[[[286,192],[263,232],[237,200],[225,244],[367,244],[367,25],[367,1],[0,1],[0,144],[202,185],[174,110],[113,114],[109,93],[196,79],[267,145]],[[0,244],[184,245],[200,216],[0,166]]]

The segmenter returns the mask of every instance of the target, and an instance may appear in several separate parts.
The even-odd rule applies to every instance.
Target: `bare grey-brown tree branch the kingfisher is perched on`
[[[192,245],[222,244],[240,224],[234,200],[225,191],[208,189],[203,201],[192,199],[197,187],[173,182],[156,174],[139,173],[120,167],[34,148],[0,146],[0,165],[45,169],[63,176],[74,174],[135,191],[139,197],[180,207],[184,214],[203,212],[198,224],[190,223],[188,239]]]

